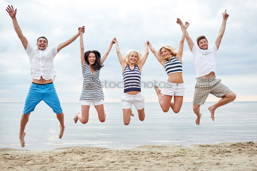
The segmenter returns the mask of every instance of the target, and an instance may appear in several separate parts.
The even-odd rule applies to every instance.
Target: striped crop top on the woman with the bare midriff
[[[182,63],[176,56],[173,56],[165,62],[165,71],[168,75],[175,72],[182,72]]]

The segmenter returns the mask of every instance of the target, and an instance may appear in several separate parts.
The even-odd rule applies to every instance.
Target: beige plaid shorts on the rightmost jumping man
[[[203,105],[209,93],[222,98],[225,94],[232,92],[220,81],[221,79],[216,79],[216,77],[196,78],[193,105]]]

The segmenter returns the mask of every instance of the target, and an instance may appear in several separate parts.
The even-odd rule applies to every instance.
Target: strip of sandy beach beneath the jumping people
[[[0,170],[257,170],[257,144],[0,149]]]

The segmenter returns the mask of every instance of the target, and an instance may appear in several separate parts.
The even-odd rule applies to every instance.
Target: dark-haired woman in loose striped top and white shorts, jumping
[[[78,119],[82,124],[88,122],[89,107],[91,102],[96,108],[98,113],[98,118],[100,122],[105,121],[104,112],[104,93],[102,90],[102,85],[99,80],[100,69],[103,67],[103,63],[112,49],[112,45],[115,43],[115,37],[107,48],[105,54],[101,59],[101,55],[98,51],[87,51],[84,53],[83,45],[83,32],[79,28],[80,33],[80,54],[81,54],[81,64],[82,64],[82,74],[83,74],[83,87],[80,96],[81,101],[81,114],[78,112],[74,117],[75,124]]]

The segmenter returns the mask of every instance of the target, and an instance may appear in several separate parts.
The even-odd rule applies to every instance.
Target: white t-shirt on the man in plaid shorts
[[[215,43],[211,46],[208,46],[208,49],[206,50],[200,49],[195,45],[193,46],[191,52],[194,55],[196,78],[203,77],[212,71],[216,76],[217,50],[218,49]]]

